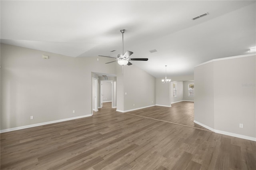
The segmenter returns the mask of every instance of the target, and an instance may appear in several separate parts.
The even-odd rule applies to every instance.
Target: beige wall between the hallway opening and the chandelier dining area
[[[122,66],[118,65],[116,75],[117,111],[155,105],[155,77],[135,65],[125,65],[123,70]]]

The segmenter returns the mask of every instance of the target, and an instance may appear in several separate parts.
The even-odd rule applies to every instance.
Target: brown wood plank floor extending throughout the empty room
[[[183,105],[172,109],[191,107]],[[200,130],[189,120],[179,124],[191,127],[155,120],[168,118],[161,107],[131,115],[109,106],[92,117],[2,133],[1,170],[256,170],[256,142]],[[140,117],[146,112],[156,118]]]

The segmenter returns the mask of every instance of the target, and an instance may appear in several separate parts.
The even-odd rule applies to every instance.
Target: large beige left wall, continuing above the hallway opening
[[[105,64],[110,60],[1,43],[1,130],[90,115],[91,72],[116,74],[116,67]]]

